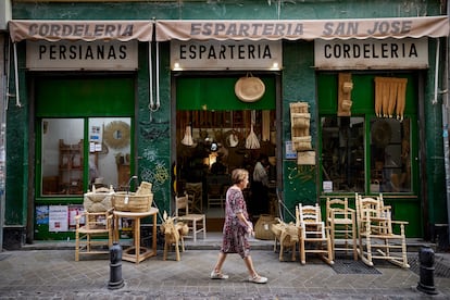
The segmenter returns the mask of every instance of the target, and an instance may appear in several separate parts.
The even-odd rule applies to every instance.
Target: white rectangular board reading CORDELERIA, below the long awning
[[[322,70],[427,68],[428,40],[365,39],[314,41],[315,67]]]

